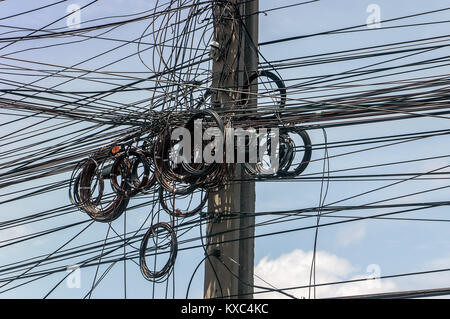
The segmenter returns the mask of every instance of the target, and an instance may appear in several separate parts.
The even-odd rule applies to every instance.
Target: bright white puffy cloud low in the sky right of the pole
[[[309,284],[312,251],[296,249],[276,259],[264,257],[255,267],[255,275],[276,288],[306,286]],[[338,282],[360,278],[373,278],[372,270],[367,274],[355,274],[356,267],[345,258],[326,251],[316,253],[316,284]],[[381,274],[377,274],[381,275]],[[255,276],[255,285],[268,287],[268,284]],[[362,281],[350,284],[328,285],[316,288],[317,298],[351,296],[395,291],[396,286],[389,280]],[[255,289],[260,291],[260,289]],[[297,298],[308,298],[308,289],[287,290]],[[313,294],[311,295],[311,297]],[[256,298],[289,298],[277,292],[256,294]]]

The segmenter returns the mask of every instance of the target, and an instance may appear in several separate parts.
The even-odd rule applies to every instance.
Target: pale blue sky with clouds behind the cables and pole
[[[50,1],[39,1],[39,4],[51,3]],[[49,22],[64,16],[67,5],[77,3],[80,6],[88,3],[88,1],[68,1],[52,8],[48,8],[42,12],[27,15],[27,18],[17,17],[6,21],[0,21],[0,24],[14,25],[29,28],[41,28]],[[278,5],[295,3],[295,1],[268,1],[261,0],[261,10],[269,9]],[[313,34],[317,32],[339,29],[347,26],[364,24],[369,15],[366,9],[370,4],[377,4],[381,8],[381,19],[390,19],[398,16],[419,13],[423,11],[431,11],[434,9],[444,8],[442,1],[360,1],[360,0],[321,0],[316,3],[306,4],[303,6],[293,7],[289,9],[271,11],[267,15],[260,16],[260,42],[285,38],[289,36]],[[37,6],[33,2],[33,6]],[[131,14],[144,10],[150,10],[154,6],[154,1],[98,1],[82,11],[81,22],[90,19],[113,16],[119,14]],[[8,16],[25,9],[31,8],[29,1],[5,1],[0,4],[1,16]],[[420,23],[426,21],[450,20],[449,11],[436,13],[430,16],[416,17],[408,20],[401,20],[392,23],[383,23],[382,27],[399,25],[403,23]],[[113,19],[114,20],[114,19]],[[88,25],[95,25],[92,22]],[[130,24],[125,27],[114,30],[111,37],[130,39],[138,38],[146,28],[146,22]],[[55,27],[65,27],[65,20],[56,23]],[[2,27],[0,32],[7,29]],[[447,24],[438,24],[422,27],[411,27],[393,30],[377,30],[371,29],[366,32],[346,33],[339,35],[317,36],[298,41],[286,42],[278,45],[270,45],[261,47],[261,54],[265,59],[278,60],[283,58],[301,57],[324,52],[333,52],[346,49],[354,49],[366,46],[375,46],[391,42],[408,41],[419,38],[427,38],[437,35],[446,35],[448,32]],[[46,42],[30,41],[24,43],[16,43],[1,51],[2,55],[8,55],[20,49],[39,47],[42,44],[51,44],[51,40]],[[43,41],[43,40],[42,40]],[[93,56],[95,53],[106,51],[114,46],[114,42],[97,41],[96,46],[92,47],[89,42],[66,45],[55,48],[33,49],[27,52],[14,54],[15,58],[29,59],[56,65],[71,65],[83,61],[85,58]],[[443,53],[443,50],[447,50]],[[95,59],[88,63],[82,64],[83,68],[91,69],[99,65],[106,65],[110,61],[118,57],[132,54],[136,51],[135,45],[125,46],[122,49],[114,51],[114,53],[106,54],[101,59]],[[448,49],[444,48],[433,52],[423,53],[419,56],[400,59],[386,63],[385,66],[400,65],[403,63],[413,62],[420,59],[431,59],[444,54],[448,55]],[[145,58],[149,56],[144,55]],[[361,59],[342,63],[331,63],[323,65],[314,65],[310,67],[294,68],[290,70],[281,70],[280,74],[284,79],[294,79],[304,76],[319,76],[323,74],[343,72],[358,67],[363,67],[372,63],[382,62],[385,57],[371,59],[370,61]],[[29,64],[13,62],[2,59],[1,63],[28,66]],[[120,63],[114,64],[107,68],[116,71],[148,71],[136,57],[132,57]],[[381,79],[371,80],[402,80],[409,77],[433,76],[448,74],[448,67],[441,67],[431,70],[414,72],[413,74],[397,75]],[[149,74],[151,74],[149,72]],[[4,75],[0,76],[1,78]],[[29,78],[21,76],[11,77],[17,80],[29,82]],[[39,82],[40,86],[50,87],[58,83],[59,80],[48,79]],[[125,83],[128,80],[123,80]],[[287,81],[288,85],[293,85],[296,81]],[[370,80],[367,82],[371,83]],[[0,88],[6,86],[0,83]],[[102,90],[109,88],[104,84],[96,84],[95,87],[89,82],[76,81],[59,87],[61,90]],[[350,90],[350,89],[348,89]],[[120,96],[122,102],[135,101],[139,98],[146,98],[147,93],[123,94]],[[301,99],[314,99],[315,93],[293,94],[288,96]],[[13,117],[5,115],[1,116],[1,123],[7,122]],[[26,123],[33,123],[33,120]],[[25,122],[13,125],[2,126],[2,133],[13,132],[19,128],[25,127]],[[57,123],[55,121],[54,123]],[[73,132],[77,129],[85,127],[82,123],[71,128]],[[428,131],[447,129],[448,123],[445,119],[437,118],[420,118],[414,120],[404,120],[396,122],[385,122],[370,125],[358,125],[342,128],[331,128],[327,130],[328,141],[341,141],[355,138],[365,138],[381,135],[405,134],[416,131]],[[63,130],[54,134],[61,134]],[[3,135],[3,134],[2,134]],[[313,143],[323,143],[324,137],[320,130],[310,131]],[[2,146],[8,150],[18,145],[26,145],[30,141],[20,141],[13,139],[15,143],[9,143]],[[63,139],[61,139],[63,140]],[[38,141],[34,139],[33,141]],[[2,143],[3,145],[3,143]],[[383,147],[376,150],[367,150],[356,154],[333,157],[330,160],[331,170],[340,170],[352,168],[356,166],[375,165],[386,162],[403,161],[412,158],[441,156],[448,154],[449,137],[440,136],[425,139],[422,141],[414,141],[395,146]],[[330,156],[336,156],[361,147],[331,149]],[[321,151],[313,154],[314,159],[323,157]],[[384,166],[356,171],[359,174],[384,174],[384,173],[417,173],[427,172],[439,167],[449,165],[448,157],[415,162],[403,165]],[[318,160],[309,165],[304,174],[319,174],[322,171],[322,161]],[[448,169],[442,171],[449,171]],[[353,172],[349,172],[352,174]],[[67,176],[65,176],[67,177]],[[61,178],[58,176],[57,178]],[[41,180],[31,181],[26,186],[37,186],[41,183],[55,181],[55,177],[45,178]],[[376,189],[384,185],[388,185],[392,181],[355,181],[355,182],[338,182],[332,181],[329,185],[329,192],[325,204],[341,200],[365,191]],[[19,190],[25,184],[9,187],[8,192]],[[360,196],[352,200],[342,203],[342,205],[362,205],[377,200],[386,199],[410,194],[413,192],[432,189],[440,186],[450,185],[445,179],[441,180],[420,180],[408,181],[399,185],[389,187],[387,189],[372,192],[368,195]],[[257,184],[257,205],[256,211],[273,211],[273,210],[289,210],[305,207],[315,207],[319,202],[320,193],[319,182],[261,182]],[[1,190],[3,193],[5,190]],[[417,196],[407,197],[397,200],[397,203],[406,202],[426,202],[426,201],[444,201],[449,195],[448,189],[420,194]],[[8,198],[8,197],[6,197]],[[142,200],[136,200],[139,203]],[[388,202],[388,203],[393,203]],[[26,200],[16,201],[1,205],[2,215],[1,221],[12,218],[29,215],[32,212],[44,211],[47,209],[68,205],[67,190],[62,189],[45,195],[31,197]],[[351,211],[345,212],[345,215],[364,216],[365,214],[381,214],[385,210],[373,211]],[[127,215],[127,229],[133,230],[139,227],[148,214],[148,209],[140,209],[130,212]],[[342,212],[342,214],[344,214]],[[407,215],[407,216],[406,216]],[[448,218],[448,211],[445,207],[423,210],[405,214],[404,217],[410,218]],[[86,220],[86,216],[81,212],[61,216],[45,222],[17,227],[9,230],[0,230],[0,240],[11,237],[20,236],[27,233],[34,233],[49,227],[57,227],[59,225],[69,224],[71,222]],[[273,217],[258,217],[257,223],[267,221]],[[323,217],[322,223],[330,222],[335,218]],[[149,222],[147,222],[147,225]],[[258,227],[257,234],[265,234],[285,229],[294,229],[297,227],[306,227],[315,224],[314,218],[305,220],[292,220],[286,223],[278,223],[275,225]],[[117,231],[122,231],[123,217],[113,223]],[[0,264],[8,264],[24,258],[48,254],[56,249],[64,241],[79,232],[84,225],[73,229],[57,232],[53,235],[44,236],[33,241],[27,241],[23,244],[14,245],[13,247],[5,247],[0,250]],[[107,231],[106,224],[92,225],[82,236],[71,243],[72,246],[81,245],[83,243],[102,240]],[[199,229],[193,229],[189,234],[180,237],[180,240],[189,238],[189,236],[198,236]],[[401,220],[364,220],[353,223],[341,224],[336,226],[322,227],[318,236],[318,255],[317,255],[317,282],[330,282],[336,280],[347,280],[359,278],[368,275],[367,267],[369,265],[378,265],[381,275],[390,275],[397,273],[406,273],[422,270],[431,270],[439,268],[450,268],[450,228],[446,222],[419,222],[419,221],[401,221]],[[186,237],[185,237],[186,236]],[[311,251],[313,248],[314,231],[305,230],[290,232],[279,236],[268,236],[256,239],[255,244],[255,265],[256,274],[265,281],[271,283],[278,288],[288,286],[300,286],[307,284],[307,275],[309,274],[308,265],[310,264]],[[199,244],[198,242],[196,244]],[[130,247],[129,249],[133,249]],[[184,298],[188,281],[192,275],[195,266],[203,258],[203,250],[201,248],[180,251],[175,264],[175,297]],[[76,261],[75,261],[76,262]],[[64,264],[64,263],[62,263]],[[61,265],[62,265],[61,264]],[[102,266],[101,271],[107,266]],[[93,297],[97,298],[123,298],[123,263],[118,263],[109,272],[105,280],[95,290]],[[83,269],[81,271],[81,288],[69,289],[63,283],[51,295],[56,298],[80,298],[92,284],[95,268]],[[25,298],[41,298],[62,278],[64,274],[59,273],[49,276],[46,279],[36,281],[32,284],[17,288],[15,290],[3,293],[0,297],[25,297]],[[259,282],[259,279],[255,279]],[[261,282],[259,282],[262,284]],[[409,290],[434,287],[448,287],[450,284],[450,275],[443,273],[439,275],[405,277],[402,279],[382,280],[376,287],[367,287],[363,284],[341,285],[337,287],[327,287],[318,289],[318,296],[331,295],[351,295],[367,292],[382,292],[393,290]],[[133,262],[127,262],[127,297],[134,298],[163,298],[166,289],[172,296],[172,282],[166,287],[165,284],[153,284],[146,281],[139,268]],[[203,267],[199,271],[193,281],[190,296],[201,297],[203,289]],[[0,290],[1,291],[1,290]],[[295,291],[296,296],[307,296],[304,290]],[[264,295],[262,295],[264,296]],[[276,294],[267,294],[266,297],[282,297]]]

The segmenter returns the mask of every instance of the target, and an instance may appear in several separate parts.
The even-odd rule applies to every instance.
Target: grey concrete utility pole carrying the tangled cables
[[[216,1],[214,40],[219,44],[221,57],[213,64],[213,88],[237,91],[257,71],[258,4],[259,0]],[[257,85],[250,89],[257,92]],[[212,95],[213,102],[227,108],[236,105],[239,98],[239,94],[224,91]],[[248,107],[256,105],[257,99],[250,98]],[[241,177],[240,166],[236,164],[236,178]],[[240,238],[254,236],[255,218],[247,214],[255,211],[255,198],[253,181],[224,185],[211,193],[208,212],[218,218],[207,225],[207,253],[220,255],[220,259],[210,256],[205,261],[205,298],[221,298],[222,294],[253,298],[254,239]],[[226,218],[236,213],[240,218]]]

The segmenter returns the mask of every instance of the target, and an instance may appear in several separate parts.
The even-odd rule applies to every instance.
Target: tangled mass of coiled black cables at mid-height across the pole
[[[225,125],[217,112],[199,110],[191,115],[184,125],[191,135],[195,134],[194,123],[198,120],[204,123],[202,134],[210,128],[215,128],[216,133],[223,137],[218,142],[226,143]],[[177,119],[175,122],[180,123],[182,120]],[[173,132],[167,125],[158,135],[147,134],[142,138],[143,143],[140,146],[137,146],[139,139],[134,138],[128,143],[104,147],[87,160],[81,161],[72,173],[69,192],[71,202],[100,222],[110,222],[119,217],[130,198],[143,192],[157,194],[164,210],[173,216],[188,217],[199,212],[211,190],[233,179],[233,165],[226,163],[223,147],[211,148],[213,153],[221,149],[222,154],[214,154],[219,160],[209,163],[198,156],[199,152],[203,152],[203,144],[200,145],[201,150],[198,145],[190,145],[190,150],[182,149],[179,147],[182,140],[179,137],[173,139]],[[259,147],[261,143],[265,144],[267,152],[258,154],[256,163],[244,163],[247,175],[257,178],[301,174],[308,166],[312,153],[307,132],[297,127],[281,128],[278,150],[272,146],[271,134],[266,132],[257,135],[260,138]],[[300,163],[294,163],[299,147],[295,145],[291,135],[299,136],[303,142],[303,158]],[[133,144],[136,146],[132,146]],[[234,147],[236,154],[238,149],[236,145]],[[248,148],[249,143],[245,145],[247,158]],[[186,153],[190,153],[189,158],[185,156]],[[266,159],[269,154],[278,156],[279,164],[276,170],[270,171],[267,168],[270,167]],[[109,180],[112,189],[108,194],[105,194],[105,180]],[[182,210],[174,205],[169,208],[168,201],[173,202],[177,197],[192,194],[197,190],[203,190],[204,195],[195,209],[181,213]]]

